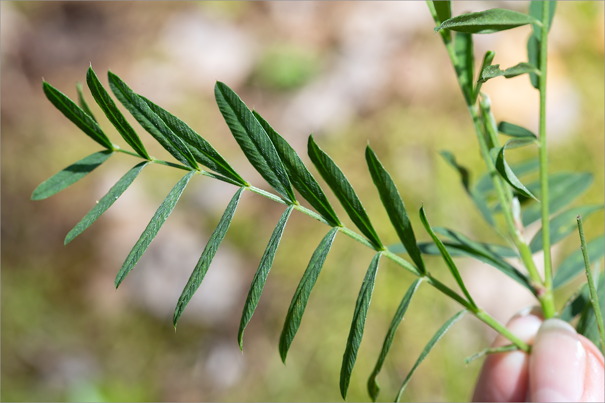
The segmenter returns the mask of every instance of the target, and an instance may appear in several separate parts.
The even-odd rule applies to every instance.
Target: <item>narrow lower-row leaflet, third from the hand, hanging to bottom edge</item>
[[[376,281],[376,271],[378,270],[381,256],[381,252],[376,253],[370,262],[368,271],[365,272],[364,282],[361,284],[361,289],[359,290],[357,302],[355,303],[355,312],[353,312],[351,330],[348,333],[347,347],[345,347],[344,355],[342,355],[340,388],[341,396],[345,400],[347,400],[348,384],[351,381],[351,373],[357,359],[359,344],[361,344],[361,338],[364,336],[365,317],[368,313],[368,308],[370,308],[370,300],[372,298],[374,282]]]

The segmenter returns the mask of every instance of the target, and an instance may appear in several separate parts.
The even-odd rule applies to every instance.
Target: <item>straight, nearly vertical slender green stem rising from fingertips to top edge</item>
[[[542,250],[544,251],[544,285],[546,292],[543,295],[543,311],[545,318],[555,314],[554,297],[552,295],[552,262],[551,262],[551,233],[548,221],[548,166],[546,160],[546,62],[548,60],[548,19],[549,1],[542,2],[542,27],[540,37],[540,77],[538,89],[540,90],[540,146],[538,158],[540,160],[540,199],[542,210]]]

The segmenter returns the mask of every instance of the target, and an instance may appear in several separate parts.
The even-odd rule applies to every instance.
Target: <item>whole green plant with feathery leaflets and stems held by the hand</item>
[[[278,347],[284,363],[287,352],[292,346],[293,339],[301,324],[301,318],[313,286],[321,273],[336,234],[345,234],[370,248],[375,254],[369,263],[359,290],[342,359],[340,390],[343,399],[347,397],[347,390],[364,333],[365,320],[382,257],[392,260],[402,269],[416,276],[417,279],[405,293],[399,308],[394,314],[393,321],[387,329],[376,366],[368,379],[368,393],[373,401],[378,397],[380,390],[377,377],[381,372],[397,327],[404,318],[411,299],[422,283],[433,286],[456,301],[462,307],[462,310],[446,321],[428,342],[416,364],[402,381],[396,395],[397,401],[401,398],[411,376],[425,356],[447,330],[466,314],[474,315],[474,317],[488,324],[511,341],[511,344],[499,349],[483,350],[469,358],[468,361],[486,353],[499,353],[515,349],[530,352],[531,346],[519,340],[488,312],[476,305],[460,276],[453,256],[468,256],[488,263],[515,282],[525,286],[539,301],[546,318],[558,316],[564,320],[572,321],[579,317],[576,326],[578,332],[586,335],[595,343],[600,343],[601,349],[603,349],[603,315],[601,314],[603,311],[603,273],[598,272],[595,276],[589,263],[590,259],[594,262],[601,259],[605,254],[603,237],[598,237],[586,243],[581,219],[581,216],[587,216],[600,210],[603,205],[580,205],[561,211],[587,188],[592,181],[592,177],[587,173],[576,172],[549,174],[547,169],[546,62],[548,58],[548,33],[554,16],[555,2],[532,1],[528,14],[492,9],[453,18],[451,17],[449,1],[428,1],[427,4],[437,25],[435,32],[439,33],[443,40],[454,67],[463,99],[474,124],[479,149],[485,161],[487,172],[482,178],[471,184],[468,170],[457,163],[453,154],[444,151],[442,156],[459,172],[466,192],[473,199],[477,210],[486,222],[491,225],[495,233],[502,237],[503,244],[478,242],[469,239],[459,231],[432,227],[424,206],[419,211],[420,221],[432,242],[417,242],[408,218],[408,211],[399,190],[397,190],[387,168],[379,160],[379,156],[368,144],[365,149],[368,170],[374,185],[376,185],[378,196],[390,218],[393,230],[401,240],[401,243],[387,247],[371,224],[367,212],[345,174],[328,153],[319,147],[312,135],[309,136],[307,143],[309,158],[359,232],[342,224],[324,190],[292,146],[257,111],[250,111],[243,100],[225,83],[217,82],[215,85],[215,99],[220,113],[250,164],[269,183],[275,193],[266,192],[250,184],[235,171],[206,139],[198,135],[188,124],[148,98],[143,97],[143,95],[137,94],[120,77],[109,72],[108,82],[114,97],[175,159],[172,162],[158,160],[148,154],[136,131],[117,108],[116,102],[105,90],[92,67],[88,69],[87,73],[88,88],[106,118],[122,135],[123,140],[131,147],[132,151],[122,149],[112,143],[110,138],[102,131],[93,116],[93,112],[85,102],[82,88],[78,87],[79,102],[75,103],[58,89],[44,82],[43,89],[51,103],[82,129],[85,134],[103,146],[103,150],[77,161],[52,176],[34,190],[31,198],[39,200],[54,195],[83,178],[108,160],[114,153],[127,153],[142,160],[126,172],[116,185],[67,234],[65,237],[65,245],[67,245],[111,207],[146,166],[162,164],[186,172],[168,193],[168,196],[157,209],[139,240],[126,257],[116,276],[115,285],[117,288],[137,264],[142,254],[145,253],[145,250],[174,209],[185,187],[194,176],[209,176],[227,184],[235,185],[237,190],[227,205],[177,301],[173,318],[174,326],[177,325],[181,314],[208,272],[215,253],[217,253],[227,230],[229,230],[244,190],[257,193],[285,206],[261,257],[243,307],[238,330],[238,343],[242,350],[244,331],[257,308],[284,228],[292,211],[297,210],[327,225],[329,230],[312,254],[309,265],[299,282],[287,311]],[[483,57],[478,74],[474,73],[474,34],[489,34],[528,24],[533,26],[534,32],[529,37],[527,44],[527,62],[500,69],[499,65],[492,64],[495,53],[488,51]],[[435,37],[437,38],[437,35]],[[537,135],[516,124],[506,121],[497,123],[491,111],[489,97],[480,91],[482,83],[486,80],[499,76],[515,77],[521,74],[528,74],[532,85],[540,93],[540,129]],[[501,144],[500,134],[506,135],[510,139]],[[518,147],[531,146],[537,147],[537,158],[517,165],[511,165],[507,162],[507,152]],[[524,184],[520,178],[523,178],[523,175],[535,172],[535,170],[539,172],[539,180]],[[298,196],[294,190],[298,192]],[[306,200],[314,210],[302,206],[297,197]],[[541,230],[533,239],[526,239],[524,228],[538,220],[541,220]],[[576,225],[580,233],[581,250],[567,257],[554,275],[551,263],[551,245],[575,230]],[[418,228],[416,228],[417,230]],[[442,240],[437,236],[438,234],[446,240]],[[539,251],[544,251],[544,276],[541,276],[538,272],[532,256]],[[400,256],[401,254],[407,254],[409,260],[404,259]],[[441,256],[454,280],[456,280],[459,291],[446,286],[431,275],[429,268],[425,265],[423,255]],[[509,258],[518,259],[524,269],[519,269],[509,263]],[[586,273],[587,283],[569,298],[560,312],[557,312],[554,290],[574,279],[583,271]],[[595,285],[594,276],[598,277],[597,285]]]

